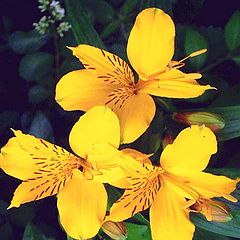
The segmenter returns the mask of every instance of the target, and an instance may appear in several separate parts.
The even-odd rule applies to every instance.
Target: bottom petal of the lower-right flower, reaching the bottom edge
[[[169,190],[165,185],[161,186],[150,208],[153,240],[192,240],[195,227],[189,220],[188,212],[183,209],[185,205],[184,197]]]

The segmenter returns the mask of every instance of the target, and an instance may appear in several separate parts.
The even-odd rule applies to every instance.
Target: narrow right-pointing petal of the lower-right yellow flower
[[[236,189],[240,179],[233,180],[204,172],[188,173],[186,176],[181,176],[181,179],[204,198],[224,197],[230,201],[236,201],[230,194]]]

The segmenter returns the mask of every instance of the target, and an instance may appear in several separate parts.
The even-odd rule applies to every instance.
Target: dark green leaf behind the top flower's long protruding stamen
[[[208,48],[208,43],[206,38],[198,31],[188,27],[186,28],[186,36],[184,42],[184,49],[186,55],[189,55],[200,49]],[[200,69],[207,60],[207,53],[201,54],[199,56],[190,58],[190,63],[194,69]]]

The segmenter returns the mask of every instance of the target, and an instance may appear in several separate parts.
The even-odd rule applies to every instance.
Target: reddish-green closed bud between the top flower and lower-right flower
[[[172,115],[173,120],[186,125],[205,125],[213,132],[224,128],[224,119],[215,113],[209,112],[176,112]]]

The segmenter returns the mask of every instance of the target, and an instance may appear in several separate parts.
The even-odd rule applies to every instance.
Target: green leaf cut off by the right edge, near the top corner
[[[225,26],[225,41],[228,49],[234,51],[240,46],[240,11],[236,11]]]

